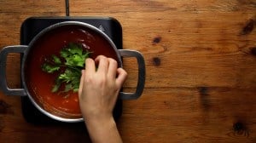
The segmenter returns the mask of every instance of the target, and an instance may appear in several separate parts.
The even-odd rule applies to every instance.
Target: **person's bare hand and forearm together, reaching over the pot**
[[[96,70],[96,65],[97,70]],[[127,72],[103,55],[85,60],[79,86],[79,105],[93,142],[122,142],[113,119],[113,107]]]

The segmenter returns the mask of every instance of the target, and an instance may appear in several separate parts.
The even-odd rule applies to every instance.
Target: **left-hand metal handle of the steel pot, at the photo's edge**
[[[6,60],[9,53],[24,53],[27,46],[16,45],[4,47],[0,52],[0,89],[7,95],[26,95],[25,89],[9,89],[6,81]],[[14,63],[17,64],[17,63]]]

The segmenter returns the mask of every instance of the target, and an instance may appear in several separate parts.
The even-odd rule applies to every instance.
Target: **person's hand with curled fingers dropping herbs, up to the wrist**
[[[79,105],[85,122],[113,117],[113,107],[126,77],[127,73],[118,68],[116,60],[103,55],[95,61],[85,60],[79,86]]]

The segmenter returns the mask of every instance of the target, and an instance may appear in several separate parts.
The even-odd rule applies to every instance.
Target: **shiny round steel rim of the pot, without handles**
[[[32,38],[32,41],[28,44],[27,49],[24,52],[23,58],[22,58],[22,64],[21,64],[21,82],[22,85],[24,86],[24,89],[26,90],[26,94],[29,97],[29,99],[32,101],[32,104],[34,106],[36,106],[36,108],[38,108],[38,110],[40,112],[43,112],[46,116],[53,118],[55,120],[61,121],[61,122],[66,122],[66,123],[77,123],[77,122],[82,122],[84,121],[83,117],[79,117],[79,118],[67,118],[67,117],[59,117],[56,116],[53,113],[47,112],[46,110],[44,110],[43,107],[39,106],[38,103],[32,98],[32,96],[30,95],[29,91],[28,91],[28,87],[26,86],[26,79],[25,79],[25,63],[26,63],[26,58],[27,55],[30,51],[30,49],[33,48],[34,43],[36,43],[38,41],[38,39],[40,39],[40,37],[44,36],[45,33],[54,30],[55,28],[61,27],[61,26],[84,26],[86,28],[89,28],[92,31],[96,31],[98,34],[100,34],[103,38],[105,38],[108,43],[113,47],[114,52],[117,55],[118,58],[118,62],[119,62],[119,66],[123,67],[122,65],[122,60],[121,60],[121,55],[119,54],[118,49],[116,48],[115,44],[113,43],[113,41],[110,39],[110,37],[108,37],[108,35],[106,33],[104,33],[103,31],[101,31],[100,29],[96,28],[96,26],[91,26],[90,24],[84,23],[84,22],[79,22],[79,21],[63,21],[63,22],[59,22],[56,23],[54,25],[48,26],[46,28],[44,28],[43,31],[40,31],[35,37]]]

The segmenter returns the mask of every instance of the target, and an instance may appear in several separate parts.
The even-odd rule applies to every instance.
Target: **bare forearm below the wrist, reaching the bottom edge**
[[[90,139],[94,143],[110,142],[121,143],[122,140],[113,117],[108,119],[96,119],[85,121],[90,134]]]

